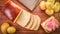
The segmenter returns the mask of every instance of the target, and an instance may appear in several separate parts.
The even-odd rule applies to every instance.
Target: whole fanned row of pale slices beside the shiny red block
[[[41,19],[38,15],[33,15],[25,10],[22,10],[14,22],[26,29],[38,30]]]

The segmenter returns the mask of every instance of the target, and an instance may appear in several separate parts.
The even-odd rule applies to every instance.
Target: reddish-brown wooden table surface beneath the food
[[[59,0],[59,1],[60,1],[60,0]],[[16,1],[13,1],[13,2],[15,2],[16,4],[18,4],[21,8],[29,11],[30,13],[39,15],[40,18],[42,19],[42,22],[43,22],[44,20],[46,20],[47,18],[50,17],[50,16],[46,15],[46,14],[44,13],[44,11],[40,10],[39,6],[37,6],[37,7],[35,8],[35,10],[31,12],[31,11],[28,10],[26,7],[24,7],[22,4],[19,4],[19,3],[16,2]],[[1,16],[1,15],[2,15],[2,16]],[[9,22],[12,26],[16,27],[17,32],[16,32],[15,34],[48,34],[48,33],[45,33],[45,31],[43,30],[43,28],[42,28],[41,26],[40,26],[40,28],[39,28],[38,31],[30,31],[30,30],[27,30],[27,29],[25,29],[25,28],[23,28],[23,27],[21,27],[21,26],[19,26],[19,25],[17,25],[17,24],[14,24],[13,22],[11,22],[11,21],[8,20],[7,18],[6,18],[6,19],[5,19],[5,18],[6,18],[5,15],[3,15],[2,13],[0,13],[0,19],[2,19],[2,20],[0,20],[0,26],[1,26],[1,24],[2,24],[3,22]],[[42,23],[42,22],[41,22],[41,23]],[[49,34],[60,34],[60,28],[56,29],[54,32],[49,33]]]

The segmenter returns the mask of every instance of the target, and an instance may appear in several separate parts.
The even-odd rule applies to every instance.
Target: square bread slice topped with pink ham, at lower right
[[[54,16],[51,16],[50,18],[45,20],[41,24],[41,26],[45,30],[46,33],[50,33],[50,32],[55,31],[56,28],[59,28],[59,22]]]

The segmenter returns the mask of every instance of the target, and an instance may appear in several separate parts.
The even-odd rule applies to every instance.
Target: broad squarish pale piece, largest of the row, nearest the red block
[[[31,18],[31,14],[25,10],[22,11],[21,15],[16,20],[16,23],[22,27],[25,27]]]

